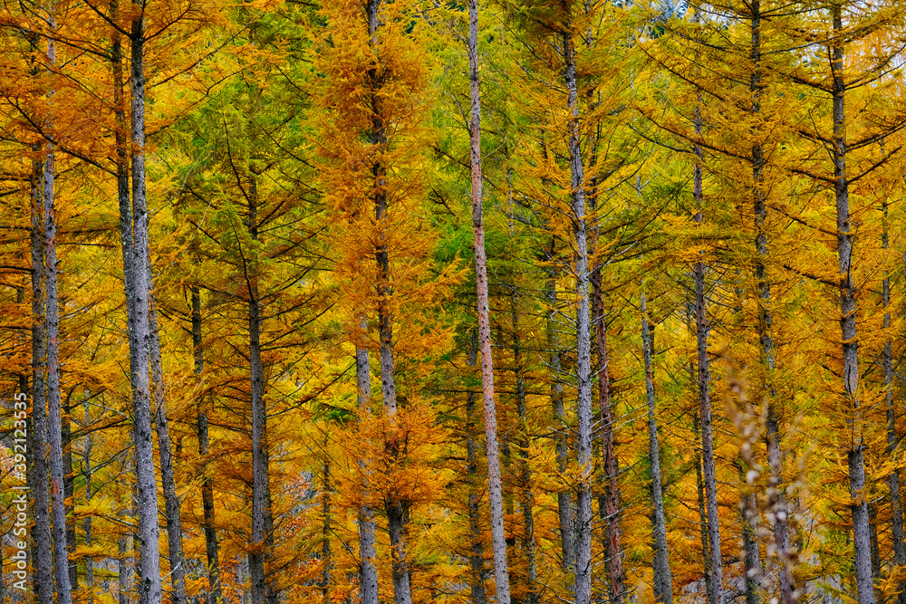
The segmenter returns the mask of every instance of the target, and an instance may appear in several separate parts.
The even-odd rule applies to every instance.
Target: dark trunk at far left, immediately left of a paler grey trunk
[[[43,162],[32,165],[32,451],[27,478],[34,501],[34,593],[53,604],[53,542],[48,490],[47,316],[44,287]]]

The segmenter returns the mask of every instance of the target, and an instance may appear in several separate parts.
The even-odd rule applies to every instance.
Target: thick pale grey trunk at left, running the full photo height
[[[139,513],[139,602],[157,604],[160,584],[158,489],[154,472],[154,440],[151,429],[149,383],[149,288],[145,264],[148,258],[148,203],[145,189],[145,24],[139,0],[130,31],[131,176],[132,205],[122,196],[120,166],[120,236],[126,286],[127,321],[130,322],[130,372],[132,379],[132,437],[135,443],[135,475]],[[114,72],[118,65],[114,65]],[[114,86],[116,87],[116,86]],[[119,110],[119,108],[118,108]],[[119,120],[118,120],[119,121]],[[126,159],[125,146],[118,145],[118,158]],[[119,163],[119,162],[118,162]],[[128,185],[127,185],[128,187]],[[128,191],[128,188],[126,189]],[[124,224],[125,223],[125,224]],[[129,321],[129,314],[132,320]]]

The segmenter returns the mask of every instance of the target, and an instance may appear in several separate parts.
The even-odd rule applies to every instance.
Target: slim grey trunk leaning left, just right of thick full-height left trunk
[[[170,562],[170,598],[172,604],[186,604],[186,564],[182,553],[182,514],[179,511],[179,497],[176,492],[176,476],[173,471],[173,449],[170,446],[167,422],[167,397],[164,385],[163,363],[160,359],[160,335],[158,309],[154,294],[154,277],[151,272],[151,258],[147,256],[146,271],[149,287],[148,320],[150,329],[151,360],[151,402],[154,408],[155,427],[158,433],[160,454],[160,484],[164,494],[164,512],[167,514],[167,545]]]

